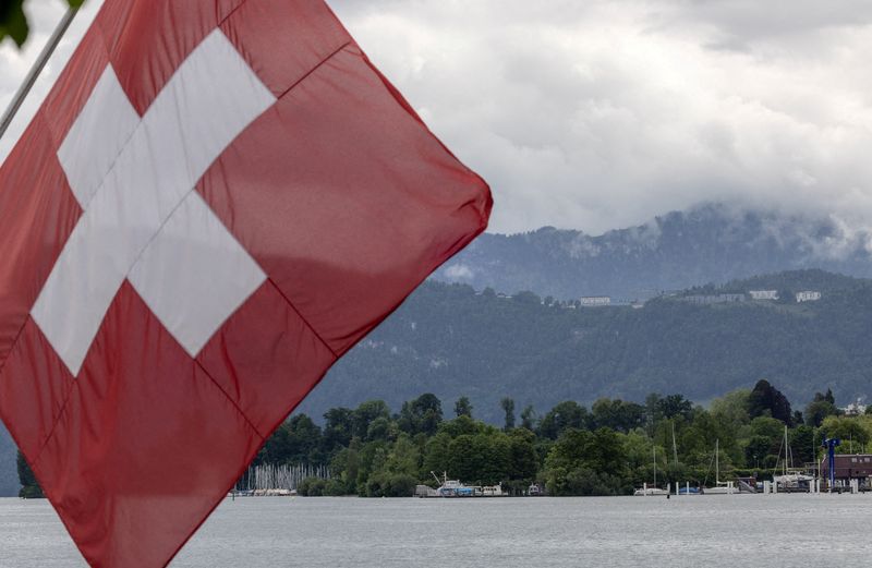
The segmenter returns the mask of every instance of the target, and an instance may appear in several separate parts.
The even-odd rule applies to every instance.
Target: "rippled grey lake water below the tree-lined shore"
[[[227,499],[180,567],[867,566],[872,495]],[[0,566],[82,567],[48,503],[0,499]]]

